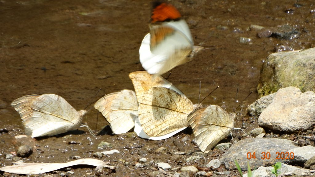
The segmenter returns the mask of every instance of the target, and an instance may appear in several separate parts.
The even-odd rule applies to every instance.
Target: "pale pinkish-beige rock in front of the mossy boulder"
[[[258,124],[276,131],[308,130],[315,125],[315,93],[281,88],[258,118]]]

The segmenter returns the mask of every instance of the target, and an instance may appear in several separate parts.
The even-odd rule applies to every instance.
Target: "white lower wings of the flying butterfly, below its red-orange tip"
[[[140,62],[148,73],[160,76],[192,60],[188,57],[192,50],[192,37],[185,20],[163,22],[163,25],[150,26],[150,33],[139,49]]]

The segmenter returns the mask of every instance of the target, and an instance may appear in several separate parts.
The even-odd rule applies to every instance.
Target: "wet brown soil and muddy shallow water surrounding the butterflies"
[[[244,131],[258,127],[257,117],[249,117],[246,107],[258,99],[256,87],[261,65],[273,52],[314,47],[314,2],[171,0],[169,3],[187,21],[195,45],[217,47],[203,50],[191,62],[174,68],[168,80],[194,103],[198,102],[200,82],[201,98],[219,86],[203,104],[216,104],[228,112],[237,108],[235,127],[243,127]],[[141,139],[133,132],[113,135],[105,127],[106,120],[93,108],[83,122],[98,132],[105,127],[97,139],[79,128],[33,139],[36,148],[31,156],[5,159],[6,154],[16,154],[14,136],[23,134],[20,116],[10,106],[14,99],[26,94],[53,93],[81,110],[105,94],[133,89],[128,75],[143,70],[138,51],[149,31],[151,9],[146,0],[0,1],[0,167],[18,160],[63,163],[96,158],[95,152],[117,149],[120,153],[100,158],[116,166],[115,171],[99,174],[89,166],[78,166],[70,168],[74,174],[66,175],[149,176],[157,171],[158,162],[169,163],[174,168],[193,165],[202,171],[211,159],[220,158],[224,150],[213,150],[201,159],[186,162],[186,158],[200,151],[193,144],[193,134],[188,128],[160,141]],[[298,33],[292,39],[268,37],[250,28],[251,25],[271,30],[289,26]],[[240,43],[241,37],[251,41]],[[253,93],[238,107],[250,92]],[[233,132],[236,140],[241,139],[240,134]],[[98,147],[101,141],[112,146]],[[230,141],[231,136],[222,142]],[[159,152],[160,147],[166,151]],[[186,154],[174,155],[175,151]],[[146,157],[148,163],[144,168],[135,168],[141,157]],[[60,176],[67,170],[48,174]],[[216,169],[225,170],[223,165]],[[228,176],[235,175],[234,170]]]

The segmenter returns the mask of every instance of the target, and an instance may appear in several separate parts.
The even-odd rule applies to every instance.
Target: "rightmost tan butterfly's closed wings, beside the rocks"
[[[188,115],[187,120],[198,147],[205,153],[225,138],[234,126],[234,115],[217,105],[199,107]]]

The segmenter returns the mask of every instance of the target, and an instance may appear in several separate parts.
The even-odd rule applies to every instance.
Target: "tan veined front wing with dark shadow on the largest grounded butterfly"
[[[150,88],[139,105],[139,122],[149,136],[162,136],[187,127],[192,102],[172,89]]]

